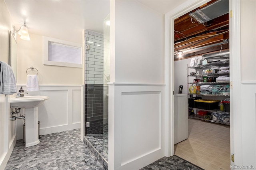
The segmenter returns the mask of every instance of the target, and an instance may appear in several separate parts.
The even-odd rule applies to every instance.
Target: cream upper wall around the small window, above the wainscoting
[[[26,70],[31,66],[38,69],[39,85],[83,84],[82,68],[44,65],[43,36],[30,34],[30,39],[30,41],[25,41],[18,36],[18,84],[26,84]],[[82,44],[82,42],[80,43]],[[28,73],[33,74],[33,72],[29,71],[30,69]]]

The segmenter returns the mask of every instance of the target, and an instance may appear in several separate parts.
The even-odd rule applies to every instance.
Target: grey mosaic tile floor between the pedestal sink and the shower
[[[17,140],[6,170],[104,170],[80,140],[80,129],[43,135],[36,146]]]

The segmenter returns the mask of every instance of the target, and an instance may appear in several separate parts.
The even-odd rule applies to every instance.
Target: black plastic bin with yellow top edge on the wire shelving
[[[196,102],[196,108],[198,109],[206,109],[206,110],[213,110],[218,109],[219,107],[219,100],[194,100]]]

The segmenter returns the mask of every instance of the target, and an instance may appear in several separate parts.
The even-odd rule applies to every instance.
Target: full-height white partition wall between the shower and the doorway
[[[108,169],[162,158],[164,16],[137,1],[110,1]]]

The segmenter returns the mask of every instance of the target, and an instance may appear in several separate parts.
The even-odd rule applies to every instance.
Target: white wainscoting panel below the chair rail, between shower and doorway
[[[140,169],[164,156],[164,85],[109,85],[109,169]]]

